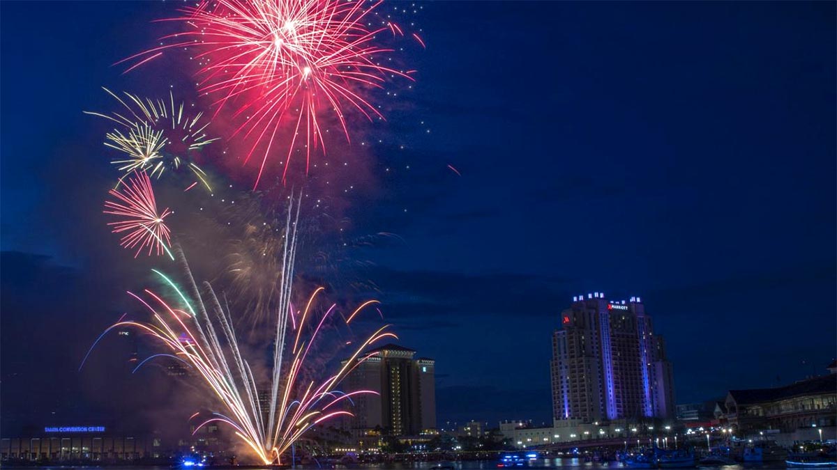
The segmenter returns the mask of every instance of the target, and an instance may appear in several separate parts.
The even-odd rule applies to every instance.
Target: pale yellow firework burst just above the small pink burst
[[[167,168],[177,170],[186,166],[212,191],[204,178],[206,173],[193,162],[186,161],[189,151],[200,150],[218,140],[206,134],[209,122],[202,123],[203,112],[187,115],[185,105],[176,105],[171,91],[168,101],[143,99],[127,92],[123,100],[110,89],[103,89],[127,112],[115,111],[110,115],[93,111],[84,113],[103,117],[120,126],[105,134],[105,146],[124,155],[112,161],[120,171],[149,171],[151,176],[159,178]]]

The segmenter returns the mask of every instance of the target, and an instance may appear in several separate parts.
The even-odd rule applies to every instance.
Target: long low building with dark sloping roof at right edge
[[[731,390],[724,405],[727,422],[742,432],[834,427],[837,425],[837,374],[776,388]]]

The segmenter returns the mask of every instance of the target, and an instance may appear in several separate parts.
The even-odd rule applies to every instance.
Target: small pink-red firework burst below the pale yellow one
[[[148,255],[167,253],[171,232],[163,220],[172,212],[168,208],[157,212],[157,202],[151,179],[145,171],[134,171],[122,180],[117,189],[108,192],[116,201],[105,201],[105,214],[119,217],[116,222],[109,222],[114,233],[124,233],[121,246],[136,248],[134,258],[147,247]]]

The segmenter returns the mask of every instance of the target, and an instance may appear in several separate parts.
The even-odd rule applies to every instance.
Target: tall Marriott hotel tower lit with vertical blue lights
[[[662,337],[639,297],[573,297],[552,335],[552,410],[561,421],[673,418],[674,383]]]

